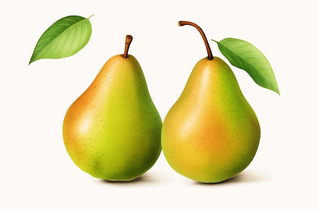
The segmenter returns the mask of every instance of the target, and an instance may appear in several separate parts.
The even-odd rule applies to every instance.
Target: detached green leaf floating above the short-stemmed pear
[[[79,52],[91,35],[89,18],[67,16],[53,23],[40,37],[29,64],[39,59],[65,58]]]

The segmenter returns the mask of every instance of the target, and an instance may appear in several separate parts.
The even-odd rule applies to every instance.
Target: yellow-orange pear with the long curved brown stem
[[[261,136],[258,118],[243,96],[229,65],[208,57],[191,72],[162,128],[165,158],[179,174],[202,183],[225,181],[242,172],[255,156]]]

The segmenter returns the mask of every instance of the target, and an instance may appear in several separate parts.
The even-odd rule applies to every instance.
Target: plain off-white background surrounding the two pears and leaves
[[[313,1],[1,1],[0,210],[316,210],[316,51]],[[41,34],[69,15],[89,17],[92,35],[76,55],[28,65]],[[82,172],[63,145],[71,103],[104,63],[123,53],[140,62],[164,119],[203,40],[235,37],[270,61],[280,96],[232,69],[259,117],[255,159],[235,178],[204,185],[178,175],[161,154],[134,182],[103,182]],[[214,56],[221,58],[210,41]],[[225,58],[224,58],[225,59]],[[226,60],[227,61],[227,60]]]

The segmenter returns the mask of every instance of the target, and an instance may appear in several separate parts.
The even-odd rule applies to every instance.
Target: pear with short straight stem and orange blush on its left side
[[[91,176],[131,181],[161,153],[162,119],[137,59],[125,51],[110,58],[68,109],[63,140],[74,163]]]

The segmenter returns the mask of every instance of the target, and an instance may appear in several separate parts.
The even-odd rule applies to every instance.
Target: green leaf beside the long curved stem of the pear
[[[236,38],[225,38],[215,42],[233,66],[245,70],[259,86],[279,95],[273,69],[259,49],[247,41]]]

